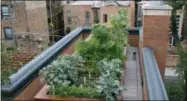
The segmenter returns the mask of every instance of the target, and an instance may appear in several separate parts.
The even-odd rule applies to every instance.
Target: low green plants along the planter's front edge
[[[56,85],[51,87],[49,94],[59,97],[102,98],[95,88],[68,85]]]

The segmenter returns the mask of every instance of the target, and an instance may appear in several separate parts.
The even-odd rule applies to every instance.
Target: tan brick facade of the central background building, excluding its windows
[[[101,7],[98,10],[98,18],[100,23],[103,23],[103,14],[107,14],[108,21],[110,17],[117,14],[117,12],[120,9],[124,9],[127,11],[128,15],[128,22],[129,26],[134,26],[134,3],[132,3],[130,6],[126,7],[118,7],[118,6],[104,6]],[[68,24],[67,22],[67,11],[70,10],[72,12],[72,24]],[[90,12],[90,23],[85,24],[85,12]],[[77,17],[77,18],[76,18]],[[91,25],[94,23],[94,12],[92,10],[91,5],[64,5],[64,26],[65,28],[70,26],[71,30],[75,29],[78,26],[84,26],[84,25]]]

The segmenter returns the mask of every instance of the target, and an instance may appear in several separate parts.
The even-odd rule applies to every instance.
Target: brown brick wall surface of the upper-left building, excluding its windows
[[[2,5],[3,4],[9,6],[10,2],[3,1]],[[12,46],[13,40],[5,39],[3,28],[12,27],[11,23],[13,21],[13,31],[16,35],[25,35],[26,33],[33,34],[34,40],[42,37],[46,43],[44,47],[47,47],[49,34],[46,1],[23,1],[15,3],[14,6],[14,19],[11,19],[11,12],[9,18],[2,19],[1,40],[6,44],[6,46]],[[22,44],[24,43],[22,40],[17,40],[17,42]],[[20,45],[18,44],[18,46]]]

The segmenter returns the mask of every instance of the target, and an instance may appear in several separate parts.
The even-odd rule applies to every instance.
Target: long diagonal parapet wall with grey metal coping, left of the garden
[[[53,59],[56,58],[59,54],[62,54],[63,52],[71,54],[71,49],[73,48],[69,45],[71,45],[71,43],[73,43],[78,38],[78,36],[80,36],[81,34],[87,34],[87,32],[89,32],[90,30],[90,27],[77,28],[76,30],[72,31],[67,36],[62,38],[60,41],[55,43],[53,46],[43,51],[35,59],[31,60],[26,65],[21,67],[18,72],[10,76],[11,83],[9,85],[2,86],[2,98],[15,98],[15,100],[30,100],[27,98],[31,98],[30,96],[35,95],[33,93],[37,93],[36,89],[41,87],[38,82],[39,79],[35,79],[38,76],[38,71],[44,66],[46,66],[48,63],[53,61]],[[86,36],[87,35],[84,35],[83,38],[85,38]],[[27,95],[25,92],[29,93],[29,90],[31,90],[30,92],[32,94]]]

